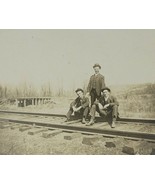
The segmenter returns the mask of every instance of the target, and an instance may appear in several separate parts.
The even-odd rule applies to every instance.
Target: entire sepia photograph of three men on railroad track
[[[154,155],[154,29],[0,29],[0,155]]]

